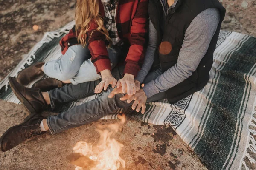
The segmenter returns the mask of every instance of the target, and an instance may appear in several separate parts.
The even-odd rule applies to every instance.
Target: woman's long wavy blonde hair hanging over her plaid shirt
[[[108,31],[104,26],[104,21],[99,14],[99,0],[77,0],[76,4],[76,34],[77,40],[84,46],[86,46],[87,31],[90,28],[91,21],[94,20],[99,26],[97,31],[103,33],[106,36],[106,40],[111,42],[111,38],[108,36]],[[88,38],[91,37],[93,32]]]

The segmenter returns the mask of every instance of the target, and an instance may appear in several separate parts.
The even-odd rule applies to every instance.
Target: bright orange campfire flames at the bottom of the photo
[[[119,156],[124,146],[111,137],[122,130],[121,125],[125,123],[124,114],[119,114],[118,118],[120,121],[117,123],[98,126],[98,143],[76,143],[73,147],[74,153],[67,156],[70,163],[76,166],[75,170],[117,170],[120,165],[125,168],[125,161]]]

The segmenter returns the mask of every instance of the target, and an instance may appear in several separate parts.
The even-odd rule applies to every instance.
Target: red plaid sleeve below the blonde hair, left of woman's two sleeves
[[[105,44],[105,35],[97,31],[97,27],[96,22],[91,22],[90,29],[87,31],[87,45],[92,55],[91,61],[97,73],[100,74],[103,70],[111,70],[111,64]]]

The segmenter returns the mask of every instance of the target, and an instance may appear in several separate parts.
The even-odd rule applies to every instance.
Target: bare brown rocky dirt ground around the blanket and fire
[[[26,55],[44,32],[53,31],[74,19],[76,0],[0,0],[0,80]],[[221,0],[227,9],[222,29],[256,37],[256,0]],[[33,25],[38,25],[37,31]],[[0,100],[0,135],[29,113],[23,105]],[[29,139],[0,153],[0,170],[72,170],[66,156],[76,142],[96,140],[98,121]],[[153,135],[154,133],[154,135]],[[116,139],[124,144],[121,157],[127,170],[204,170],[204,165],[171,127],[127,121]],[[251,167],[256,169],[256,167]]]

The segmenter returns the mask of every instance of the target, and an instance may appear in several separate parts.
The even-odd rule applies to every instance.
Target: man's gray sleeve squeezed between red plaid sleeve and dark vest
[[[154,62],[154,54],[157,48],[157,30],[154,28],[153,23],[149,20],[149,42],[147,51],[145,54],[145,59],[142,65],[142,68],[138,72],[135,79],[139,82],[143,82],[145,77],[147,76],[153,62]]]

